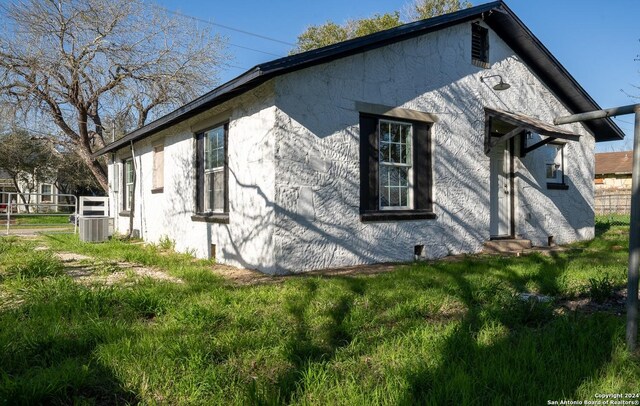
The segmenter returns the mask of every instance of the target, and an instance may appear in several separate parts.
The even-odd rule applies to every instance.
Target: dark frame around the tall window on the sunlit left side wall
[[[223,166],[206,169],[205,165],[205,134],[210,131],[222,128],[224,131],[223,142]],[[195,215],[191,216],[193,221],[205,221],[211,223],[229,222],[229,122],[225,121],[195,133],[196,141],[196,192],[195,192]],[[205,207],[205,176],[208,173],[223,173],[223,209],[211,210]]]

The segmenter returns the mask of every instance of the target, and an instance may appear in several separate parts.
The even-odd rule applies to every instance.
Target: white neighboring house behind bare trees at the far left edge
[[[27,185],[19,182],[21,194],[18,193],[11,176],[0,169],[0,213],[6,213],[11,199],[12,211],[24,213],[29,211],[51,212],[58,210],[58,189],[53,182],[35,182]],[[24,200],[23,200],[24,199]]]

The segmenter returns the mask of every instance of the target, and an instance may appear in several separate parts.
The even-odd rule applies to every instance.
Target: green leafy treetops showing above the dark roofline
[[[471,7],[467,0],[415,0],[408,6],[406,14],[409,21],[422,20],[452,13],[463,8]],[[360,20],[348,20],[340,25],[333,21],[327,21],[321,25],[312,25],[298,36],[296,47],[290,52],[297,54],[312,49],[321,48],[348,39],[362,37],[378,31],[397,27],[404,22],[400,18],[400,12],[375,14],[369,18]]]

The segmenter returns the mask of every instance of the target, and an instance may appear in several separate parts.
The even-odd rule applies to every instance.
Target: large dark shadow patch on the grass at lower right
[[[557,315],[552,303],[515,297],[509,288],[522,291],[531,284],[547,294],[561,291],[558,282],[566,257],[527,259],[537,265],[536,272],[498,270],[504,283],[484,294],[469,282],[481,273],[477,269],[433,266],[455,282],[468,312],[446,338],[439,367],[406,372],[409,388],[401,404],[546,404],[571,399],[610,361],[621,320],[607,314]]]

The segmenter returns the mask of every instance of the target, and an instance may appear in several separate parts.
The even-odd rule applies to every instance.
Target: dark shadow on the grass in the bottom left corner
[[[65,277],[23,282],[22,289],[25,303],[0,311],[0,404],[140,400],[97,351],[133,339],[131,322],[155,311],[142,290],[91,290]]]

